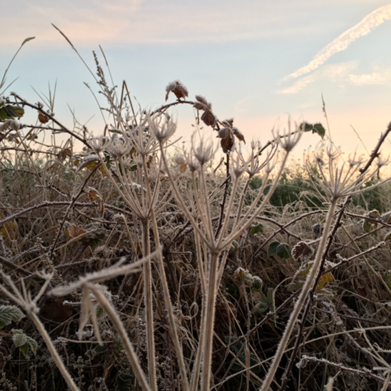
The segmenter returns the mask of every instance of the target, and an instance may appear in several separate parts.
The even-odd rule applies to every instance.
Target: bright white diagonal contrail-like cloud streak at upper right
[[[368,14],[362,21],[354,25],[346,32],[342,33],[333,42],[329,43],[324,49],[322,49],[316,56],[305,66],[297,71],[290,74],[284,80],[288,78],[298,78],[304,74],[317,69],[322,65],[328,58],[333,56],[337,52],[345,50],[350,43],[355,41],[360,36],[369,34],[377,26],[381,25],[384,21],[391,19],[391,4],[384,5],[383,7],[377,8],[375,11]],[[294,86],[293,86],[294,87]],[[293,88],[291,87],[291,89]]]

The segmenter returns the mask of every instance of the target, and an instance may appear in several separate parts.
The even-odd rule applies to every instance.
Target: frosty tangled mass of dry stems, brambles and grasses
[[[135,111],[94,57],[102,135],[0,96],[1,389],[391,389],[391,123],[368,161],[287,165],[326,137],[291,121],[247,157],[203,96]],[[221,161],[200,130],[172,157],[183,104]]]

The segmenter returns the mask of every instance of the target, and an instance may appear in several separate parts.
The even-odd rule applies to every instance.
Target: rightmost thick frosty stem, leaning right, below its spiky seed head
[[[317,254],[316,254],[315,260],[313,262],[313,266],[311,267],[311,270],[307,275],[306,281],[304,282],[304,286],[302,287],[302,291],[298,297],[298,301],[296,302],[295,307],[293,308],[293,312],[291,313],[291,316],[289,317],[288,324],[285,328],[284,334],[282,335],[282,338],[280,340],[280,344],[278,345],[276,354],[274,355],[273,361],[271,363],[269,371],[267,372],[267,376],[265,378],[265,381],[262,384],[262,388],[260,388],[260,391],[268,391],[269,390],[269,387],[271,385],[271,382],[273,381],[274,375],[276,374],[276,370],[278,368],[278,365],[280,364],[282,355],[284,354],[284,350],[287,347],[287,344],[289,342],[289,337],[291,337],[291,333],[293,331],[295,323],[298,320],[300,312],[302,311],[302,307],[304,306],[304,303],[308,297],[309,291],[311,289],[311,286],[312,286],[313,281],[315,280],[315,276],[317,274],[317,269],[319,268],[320,262],[322,260],[322,255],[323,255],[324,249],[326,247],[328,232],[330,231],[331,223],[333,222],[333,216],[334,216],[334,212],[335,212],[336,207],[337,207],[337,198],[335,197],[331,201],[331,205],[328,208],[328,214],[326,217],[326,223],[324,225],[322,239],[320,241],[319,248],[317,249]]]

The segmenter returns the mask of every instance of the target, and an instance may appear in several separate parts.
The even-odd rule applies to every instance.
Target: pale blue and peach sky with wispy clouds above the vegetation
[[[37,102],[35,91],[56,85],[56,118],[71,127],[73,112],[96,135],[104,122],[84,83],[98,86],[52,23],[92,71],[93,50],[104,65],[101,46],[115,85],[126,80],[143,109],[164,104],[166,85],[181,80],[190,99],[205,96],[220,120],[234,118],[247,145],[267,142],[291,118],[321,122],[345,153],[368,155],[391,121],[389,1],[14,0],[1,10],[0,78],[35,37],[12,63],[5,94]],[[190,139],[192,109],[171,113]],[[318,141],[305,135],[296,153]]]

